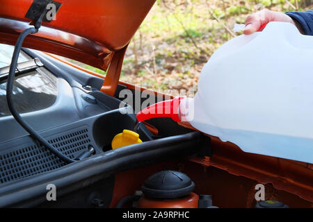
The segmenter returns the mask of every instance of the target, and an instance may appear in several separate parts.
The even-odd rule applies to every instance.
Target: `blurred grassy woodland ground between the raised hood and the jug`
[[[242,34],[232,31],[234,24],[264,8],[312,10],[313,1],[157,0],[129,44],[120,80],[167,94],[172,94],[168,89],[196,90],[209,57]]]

